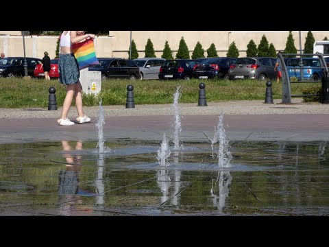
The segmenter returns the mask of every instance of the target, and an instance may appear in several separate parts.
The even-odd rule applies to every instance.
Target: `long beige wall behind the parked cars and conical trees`
[[[0,31],[1,34],[2,31]],[[10,34],[8,31],[5,34]],[[20,31],[12,31],[20,32]],[[329,38],[329,31],[312,31],[315,40],[323,40],[325,36]],[[130,46],[130,31],[110,31],[109,36],[98,36],[95,39],[95,51],[97,57],[121,57],[128,58],[128,49]],[[169,46],[173,51],[173,57],[177,53],[180,38],[184,37],[186,45],[190,50],[190,56],[193,49],[199,41],[205,50],[211,43],[215,44],[219,56],[226,56],[230,43],[235,41],[239,49],[240,56],[245,56],[247,44],[251,39],[256,45],[259,45],[260,39],[265,34],[269,43],[273,43],[276,50],[284,50],[287,43],[288,31],[270,32],[270,31],[132,31],[132,39],[136,43],[138,55],[140,58],[145,56],[145,45],[147,39],[151,38],[156,51],[156,56],[162,55],[164,43],[168,40]],[[307,31],[302,31],[302,49],[304,49]],[[293,32],[295,47],[299,51],[299,32]],[[56,41],[58,36],[25,36],[26,56],[42,58],[43,53],[48,51],[50,58],[56,55]],[[23,37],[17,34],[0,35],[0,52],[5,56],[23,56]]]

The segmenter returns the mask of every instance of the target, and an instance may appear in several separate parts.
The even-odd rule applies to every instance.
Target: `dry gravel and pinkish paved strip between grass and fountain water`
[[[215,102],[208,106],[179,104],[183,141],[207,141],[223,114],[228,139],[232,141],[328,141],[329,105],[302,103],[265,104],[263,101]],[[172,132],[171,104],[102,106],[103,126],[107,141],[113,139],[162,140],[164,132]],[[100,107],[85,107],[92,119],[88,124],[59,126],[57,119],[62,108],[0,109],[0,143],[27,141],[58,141],[62,139],[97,140],[97,117]],[[69,112],[73,121],[75,107]]]

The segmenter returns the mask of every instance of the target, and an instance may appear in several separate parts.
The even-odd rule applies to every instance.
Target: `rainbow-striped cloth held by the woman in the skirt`
[[[72,44],[73,53],[79,70],[89,67],[91,64],[99,64],[96,58],[93,38],[89,38],[80,43]]]

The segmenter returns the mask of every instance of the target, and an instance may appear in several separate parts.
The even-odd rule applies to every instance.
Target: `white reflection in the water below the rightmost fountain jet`
[[[219,211],[223,211],[225,201],[230,191],[232,176],[230,172],[218,172],[217,178],[212,178],[212,186],[210,194],[212,197],[212,204],[217,207]]]

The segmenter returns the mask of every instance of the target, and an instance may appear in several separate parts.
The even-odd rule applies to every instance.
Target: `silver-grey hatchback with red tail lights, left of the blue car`
[[[273,80],[277,77],[276,58],[269,57],[250,57],[237,58],[234,64],[230,65],[228,70],[228,78],[234,79],[258,79]]]

